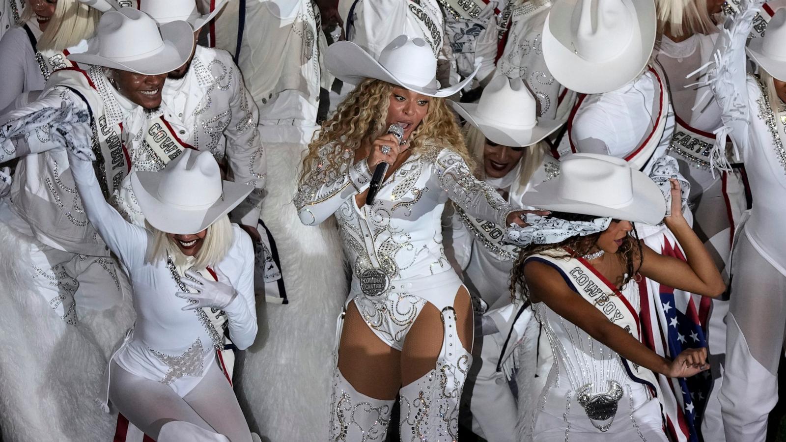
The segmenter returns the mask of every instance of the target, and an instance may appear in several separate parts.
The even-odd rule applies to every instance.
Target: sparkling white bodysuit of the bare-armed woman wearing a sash
[[[629,283],[622,292],[638,311],[637,284]],[[554,354],[554,365],[534,412],[535,441],[667,440],[658,400],[645,385],[630,379],[617,352],[542,302],[534,304],[534,311]],[[597,399],[585,408],[578,399],[582,393]],[[611,409],[612,421],[591,421],[588,414],[593,414],[594,404],[602,407],[608,397],[617,404]]]

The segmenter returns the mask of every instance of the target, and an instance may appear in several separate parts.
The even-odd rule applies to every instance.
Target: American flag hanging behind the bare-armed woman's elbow
[[[674,236],[663,234],[645,238],[645,243],[664,256],[685,260]],[[653,244],[654,243],[654,244]],[[704,328],[711,300],[647,278],[639,282],[641,295],[642,341],[654,352],[668,359],[687,348],[707,347]],[[658,374],[666,430],[672,440],[701,440],[701,411],[707,403],[712,385],[709,371],[692,378],[667,378]]]

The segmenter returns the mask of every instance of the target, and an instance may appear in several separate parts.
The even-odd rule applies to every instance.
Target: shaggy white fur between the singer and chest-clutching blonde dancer
[[[262,217],[277,244],[289,304],[257,297],[259,333],[235,369],[249,426],[273,442],[325,438],[336,318],[348,293],[335,222],[303,226],[292,204],[304,147],[265,143]]]

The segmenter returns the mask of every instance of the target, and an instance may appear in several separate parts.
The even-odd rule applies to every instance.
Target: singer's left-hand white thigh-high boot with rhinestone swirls
[[[384,441],[394,402],[358,392],[336,367],[330,406],[330,440]]]

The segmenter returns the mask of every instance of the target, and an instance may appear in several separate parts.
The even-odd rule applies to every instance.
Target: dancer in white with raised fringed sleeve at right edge
[[[761,39],[747,48],[759,76],[746,73],[745,43],[762,1],[741,2],[740,13],[718,38],[719,61],[708,73],[722,108],[724,128],[739,154],[755,195],[749,218],[736,235],[732,254],[726,361],[720,392],[728,442],[760,442],[777,403],[777,374],[784,343],[784,45],[786,9],[769,21]],[[714,147],[723,167],[725,145]],[[728,165],[728,164],[727,164]]]

